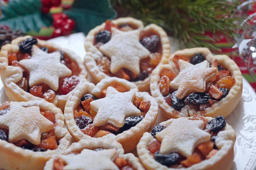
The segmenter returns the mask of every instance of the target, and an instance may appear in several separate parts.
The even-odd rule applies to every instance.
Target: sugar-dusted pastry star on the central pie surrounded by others
[[[120,93],[113,87],[107,88],[107,95],[103,99],[90,102],[91,108],[97,112],[93,123],[102,126],[111,123],[116,127],[123,127],[129,116],[140,115],[140,110],[133,105],[136,91]]]

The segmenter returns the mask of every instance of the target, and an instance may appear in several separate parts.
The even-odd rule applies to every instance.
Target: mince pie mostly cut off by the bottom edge
[[[113,136],[112,136],[113,137]],[[145,170],[132,153],[111,138],[82,139],[50,159],[44,170]]]

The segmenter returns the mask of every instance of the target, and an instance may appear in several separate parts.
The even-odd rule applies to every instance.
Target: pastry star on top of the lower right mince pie
[[[157,133],[156,138],[162,142],[161,154],[178,152],[183,156],[192,155],[195,147],[211,139],[211,135],[202,130],[204,122],[201,120],[174,119],[174,121]]]

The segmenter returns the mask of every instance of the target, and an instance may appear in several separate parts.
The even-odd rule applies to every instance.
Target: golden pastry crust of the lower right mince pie
[[[211,117],[206,117],[211,120]],[[188,119],[188,118],[179,118]],[[160,125],[168,126],[175,119],[169,119],[166,122],[160,123]],[[137,145],[137,152],[140,161],[147,170],[177,170],[176,168],[169,168],[163,164],[155,161],[153,156],[149,154],[148,143],[154,137],[150,133],[144,133],[140,139],[140,143]],[[215,140],[215,145],[218,147],[218,152],[210,159],[201,161],[198,164],[194,164],[191,167],[180,168],[179,170],[230,170],[234,158],[234,144],[236,141],[235,130],[230,125],[226,125],[223,130],[218,133],[218,138]]]

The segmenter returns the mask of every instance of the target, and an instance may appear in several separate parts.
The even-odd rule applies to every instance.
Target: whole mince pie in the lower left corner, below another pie
[[[70,146],[61,109],[44,100],[0,105],[0,169],[43,169]]]

